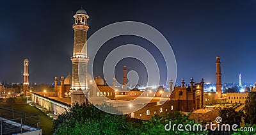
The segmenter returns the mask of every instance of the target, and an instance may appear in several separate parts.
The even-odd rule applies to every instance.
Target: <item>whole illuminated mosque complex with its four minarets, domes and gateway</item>
[[[68,74],[67,77],[61,76],[60,81],[58,77],[55,77],[54,91],[28,91],[28,60],[24,60],[24,94],[29,95],[32,102],[45,107],[47,111],[59,115],[66,109],[70,109],[72,104],[76,102],[79,104],[82,102],[89,103],[86,97],[107,97],[111,100],[118,100],[121,103],[122,101],[133,100],[138,97],[153,97],[147,106],[129,113],[132,118],[148,120],[156,114],[161,115],[172,111],[193,112],[198,109],[204,109],[205,105],[223,102],[221,94],[220,57],[218,56],[216,57],[216,93],[204,93],[204,79],[201,79],[200,83],[195,83],[193,78],[191,78],[189,84],[185,84],[185,80],[182,79],[180,86],[173,86],[172,79],[170,79],[170,91],[161,88],[155,92],[150,90],[127,91],[126,66],[124,66],[123,90],[116,88],[115,78],[113,78],[112,86],[108,86],[106,80],[100,76],[95,77],[93,82],[92,79],[88,79],[86,76],[87,64],[90,60],[87,54],[86,44],[87,31],[89,29],[87,20],[89,19],[89,15],[81,8],[77,10],[74,19],[75,22],[72,26],[74,29],[74,47],[73,55],[70,58],[72,61],[72,74]],[[82,51],[83,47],[85,47],[85,50]],[[84,78],[79,78],[79,66],[84,69],[84,72],[82,72]],[[96,84],[97,88],[93,87],[92,84]],[[161,99],[163,98],[166,99],[166,102],[161,104]],[[140,102],[140,104],[144,103]],[[138,103],[138,106],[140,104]],[[135,104],[132,106],[135,106]],[[124,102],[124,104],[116,107],[131,106]]]

